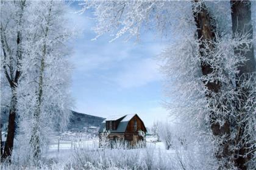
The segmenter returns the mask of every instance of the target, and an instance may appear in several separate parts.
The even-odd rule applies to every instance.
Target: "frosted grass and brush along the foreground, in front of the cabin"
[[[169,150],[160,142],[147,142],[144,147],[145,142],[141,141],[134,148],[123,141],[116,141],[113,148],[77,143],[73,149],[65,151],[71,152],[68,157],[57,153],[56,158],[46,155],[37,166],[32,161],[16,158],[11,165],[2,163],[1,169],[215,169],[214,162],[202,154],[209,149],[201,143],[188,143],[185,148],[174,142]]]

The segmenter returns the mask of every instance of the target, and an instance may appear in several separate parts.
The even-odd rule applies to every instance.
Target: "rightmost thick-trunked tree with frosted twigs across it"
[[[256,72],[255,72],[255,53],[253,39],[252,19],[251,19],[251,2],[249,1],[231,1],[232,9],[232,31],[233,38],[240,39],[240,44],[234,46],[235,56],[243,58],[238,63],[236,73],[236,112],[235,119],[230,123],[233,124],[235,138],[232,142],[235,143],[236,157],[235,164],[238,168],[246,169],[247,162],[256,158],[256,139],[255,139],[255,103],[256,103]],[[255,13],[253,13],[255,16]],[[255,27],[255,26],[254,26]],[[242,40],[242,41],[241,41]],[[233,117],[232,115],[232,117]],[[252,163],[255,164],[254,161]]]

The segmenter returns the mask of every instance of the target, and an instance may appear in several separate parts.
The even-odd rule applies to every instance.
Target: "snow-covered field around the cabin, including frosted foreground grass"
[[[172,144],[169,150],[157,137],[147,136],[146,147],[127,149],[123,145],[114,149],[99,148],[99,139],[83,132],[65,132],[52,135],[49,150],[37,164],[25,163],[29,169],[205,169],[209,161],[204,157],[199,144],[188,143],[187,147],[179,143]],[[141,145],[142,146],[142,145]],[[205,160],[205,161],[202,161]],[[1,166],[3,170],[20,169],[20,163]]]

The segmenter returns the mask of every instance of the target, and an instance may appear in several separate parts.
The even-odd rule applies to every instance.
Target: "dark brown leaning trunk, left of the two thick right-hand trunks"
[[[197,3],[201,3],[201,5],[197,5]],[[201,60],[201,69],[202,75],[207,76],[211,73],[215,73],[216,70],[213,69],[210,63],[205,62],[205,58],[212,58],[212,52],[215,50],[215,42],[216,42],[216,26],[214,19],[210,16],[207,8],[203,1],[194,1],[193,4],[193,12],[194,12],[194,21],[196,22],[197,28],[197,39],[201,42],[199,46],[199,52],[202,57]],[[208,89],[208,92],[205,94],[205,97],[212,98],[212,94],[218,94],[221,89],[221,82],[219,81],[208,81],[203,82]],[[211,106],[210,106],[211,107]],[[219,106],[221,107],[221,106]],[[216,113],[210,112],[211,118],[211,129],[213,135],[222,137],[223,135],[230,134],[230,123],[229,121],[224,122],[224,126],[221,126],[219,123],[216,123]],[[219,151],[216,152],[216,158],[222,159],[226,158],[230,155],[229,151],[229,142],[226,141],[221,143],[219,146]],[[227,165],[225,165],[226,168]]]

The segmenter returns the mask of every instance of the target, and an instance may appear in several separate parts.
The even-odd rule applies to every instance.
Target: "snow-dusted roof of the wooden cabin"
[[[135,115],[136,114],[110,116],[102,122],[101,127],[99,128],[99,132],[103,132],[103,130],[105,128],[106,121],[114,121],[114,120],[118,120],[119,118],[122,118],[122,120],[119,122],[117,129],[116,130],[108,130],[108,131],[110,131],[110,133],[126,132],[126,127],[129,123],[129,121]]]

